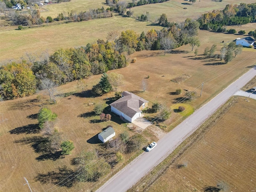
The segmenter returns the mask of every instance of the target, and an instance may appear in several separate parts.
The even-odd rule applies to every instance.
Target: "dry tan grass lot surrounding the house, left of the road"
[[[176,98],[183,96],[185,93],[183,91],[179,96],[172,94],[177,88],[195,90],[199,95],[202,82],[225,72],[218,78],[214,78],[204,84],[202,97],[187,103],[188,108],[196,109],[212,96],[218,94],[251,66],[255,65],[256,50],[254,52],[245,50],[228,64],[224,64],[220,60],[204,59],[200,54],[203,53],[206,46],[216,43],[219,50],[222,40],[228,42],[234,38],[234,35],[228,34],[216,34],[213,38],[212,34],[212,32],[208,31],[199,31],[201,47],[199,55],[196,57],[191,52],[189,45],[181,46],[166,54],[166,56],[164,56],[163,51],[136,52],[130,56],[131,59],[137,58],[136,63],[129,64],[126,68],[109,72],[117,72],[124,75],[125,82],[119,88],[120,91],[128,90],[133,92],[148,100],[150,106],[153,102],[165,103],[173,110],[178,108],[178,106],[174,106]],[[241,60],[243,62],[240,62]],[[187,74],[190,78],[179,84],[171,81],[182,74]],[[150,78],[146,78],[148,76]],[[37,191],[45,191],[54,187],[53,183],[56,182],[56,178],[66,177],[66,175],[63,176],[59,168],[64,166],[66,166],[64,170],[74,168],[71,165],[71,161],[83,149],[93,150],[98,148],[97,144],[90,144],[87,141],[101,132],[102,128],[105,128],[108,124],[114,127],[116,135],[124,130],[134,134],[118,118],[113,118],[110,122],[100,123],[90,123],[90,120],[96,118],[95,116],[84,118],[93,108],[93,106],[88,106],[88,103],[106,103],[108,101],[106,98],[114,96],[114,92],[111,92],[101,97],[90,97],[90,89],[99,79],[100,75],[97,75],[85,80],[88,85],[88,91],[85,94],[72,94],[72,92],[78,92],[76,82],[58,87],[60,96],[57,97],[56,105],[48,104],[46,100],[48,97],[42,92],[39,93],[43,96],[42,101],[35,100],[37,95],[34,95],[0,102],[0,168],[3,173],[0,177],[0,191],[27,191],[28,186],[23,186],[24,176]],[[145,92],[142,92],[142,80],[146,80],[148,84]],[[66,94],[66,97],[64,97],[64,94]],[[34,128],[37,126],[35,116],[43,105],[48,106],[58,114],[57,128],[59,132],[62,133],[64,138],[74,142],[75,148],[72,154],[65,156],[64,159],[40,159],[40,153],[36,153],[32,147],[35,144],[33,141],[34,136],[39,136],[37,132],[33,133]],[[182,115],[174,110],[170,120],[164,122],[166,128],[163,129],[170,130],[180,118],[182,118]],[[150,134],[148,129],[143,134],[148,138],[148,141],[157,139],[156,136]],[[125,160],[128,160],[130,156],[124,157]],[[40,180],[44,180],[45,183],[40,182]],[[75,185],[72,188],[60,187],[56,191],[91,190],[95,189],[96,185],[95,183],[86,182]],[[12,186],[11,189],[10,186]]]

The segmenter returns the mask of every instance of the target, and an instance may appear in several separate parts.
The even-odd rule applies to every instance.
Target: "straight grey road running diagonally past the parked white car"
[[[224,104],[230,96],[234,95],[255,75],[256,68],[249,70],[160,139],[154,150],[143,152],[138,158],[108,180],[97,192],[124,192],[128,190],[154,166],[164,160],[182,141],[190,136],[211,114]]]

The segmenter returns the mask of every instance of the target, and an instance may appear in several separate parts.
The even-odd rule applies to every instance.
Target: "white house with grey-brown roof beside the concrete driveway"
[[[148,101],[130,93],[122,92],[122,98],[110,104],[111,111],[118,114],[120,118],[124,118],[128,122],[133,122],[141,116],[142,109],[148,106]]]

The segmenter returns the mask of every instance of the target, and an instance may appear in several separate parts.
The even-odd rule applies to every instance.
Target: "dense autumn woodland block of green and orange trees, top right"
[[[228,4],[224,10],[213,10],[202,14],[197,21],[200,23],[200,29],[226,32],[223,26],[256,22],[256,3]]]

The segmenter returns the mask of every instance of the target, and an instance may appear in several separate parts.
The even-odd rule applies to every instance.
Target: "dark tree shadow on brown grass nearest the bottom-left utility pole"
[[[70,188],[78,181],[77,178],[74,177],[74,173],[74,170],[63,166],[59,167],[56,171],[50,171],[46,174],[38,174],[34,179],[41,184],[51,183],[57,186]]]

